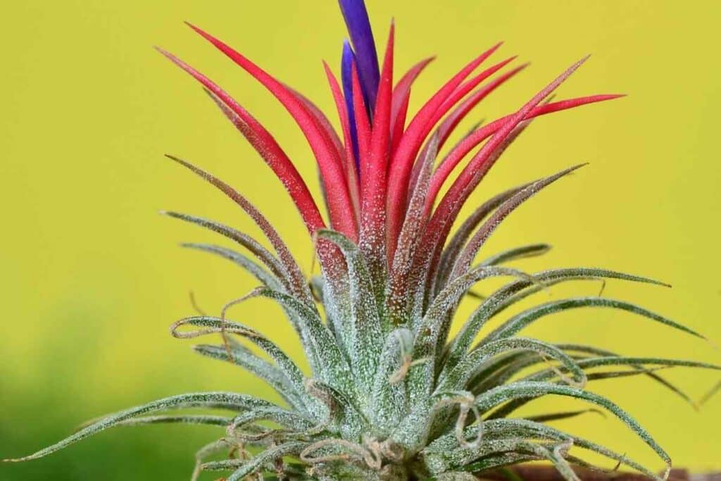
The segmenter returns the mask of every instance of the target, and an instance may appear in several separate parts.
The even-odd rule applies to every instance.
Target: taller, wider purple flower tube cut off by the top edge
[[[363,0],[338,0],[338,3],[355,50],[358,76],[361,78],[363,97],[368,107],[368,117],[372,118],[381,74],[366,2]]]

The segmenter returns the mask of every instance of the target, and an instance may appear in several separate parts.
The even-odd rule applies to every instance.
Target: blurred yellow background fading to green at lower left
[[[506,42],[497,58],[518,53],[519,61],[533,61],[472,120],[516,109],[592,53],[559,96],[629,97],[543,118],[508,151],[476,200],[570,164],[590,167],[514,213],[485,253],[545,241],[554,250],[524,268],[603,266],[671,282],[671,290],[609,283],[605,295],[639,301],[721,339],[721,67],[715,61],[721,3],[369,0],[368,6],[383,41],[389,19],[396,19],[397,73],[438,54],[417,84],[415,106],[497,40]],[[151,45],[169,48],[226,87],[314,179],[310,151],[289,116],[182,20],[223,38],[332,112],[320,60],[338,63],[344,28],[336,2],[25,0],[2,10],[0,457],[27,454],[83,420],[169,394],[271,395],[247,374],[199,358],[168,335],[172,321],[192,313],[189,291],[203,309],[218,312],[253,283],[222,260],[177,248],[182,240],[218,239],[157,211],[172,208],[256,231],[231,203],[162,154],[190,159],[246,193],[277,223],[305,268],[311,245],[270,170]],[[597,291],[588,284],[573,289]],[[253,302],[235,317],[298,353],[275,306]],[[549,318],[528,334],[721,362],[713,345],[606,311]],[[720,377],[668,376],[692,397]],[[676,465],[721,468],[721,399],[696,412],[649,381],[602,381],[591,389],[636,415]],[[545,400],[534,410],[559,405],[565,404]],[[590,416],[562,427],[661,467],[614,420]],[[118,428],[47,459],[0,465],[0,480],[187,479],[195,449],[215,433]]]

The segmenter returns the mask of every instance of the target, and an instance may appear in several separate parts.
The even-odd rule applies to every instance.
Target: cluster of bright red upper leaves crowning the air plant
[[[485,50],[454,74],[423,102],[408,122],[407,109],[412,85],[433,57],[416,63],[393,84],[393,26],[389,33],[383,66],[379,70],[380,80],[376,92],[367,92],[368,84],[363,84],[361,80],[355,61],[357,52],[352,53],[354,57],[350,62],[352,79],[349,89],[340,87],[332,69],[324,63],[340,120],[339,135],[322,110],[302,94],[286,87],[226,43],[198,27],[191,27],[257,79],[296,120],[318,164],[324,201],[329,213],[329,226],[358,243],[373,273],[374,281],[383,284],[384,288],[388,286],[386,273],[393,270],[394,265],[397,269],[408,262],[410,265],[403,268],[404,284],[417,282],[417,289],[422,290],[428,283],[435,284],[438,281],[433,278],[435,266],[461,207],[500,154],[518,136],[520,131],[516,132],[516,128],[524,120],[619,97],[592,95],[542,104],[554,89],[585,61],[583,59],[537,93],[520,110],[474,128],[442,157],[441,162],[435,162],[437,151],[432,159],[428,158],[431,133],[435,132],[437,150],[443,149],[457,126],[479,102],[526,67],[524,64],[503,71],[516,58],[511,57],[473,75],[473,72],[500,48],[500,43]],[[347,48],[350,47],[347,45]],[[248,138],[283,182],[310,233],[314,234],[317,229],[324,228],[326,223],[320,216],[316,200],[312,198],[304,180],[273,136],[207,77],[162,51],[211,92],[221,110]],[[490,80],[484,84],[487,79]],[[375,105],[366,105],[369,98],[376,99]],[[349,109],[352,109],[352,112]],[[369,114],[372,118],[369,118]],[[448,192],[436,206],[438,193],[456,167],[475,147],[481,145],[480,151],[452,180]],[[355,158],[356,149],[358,159]],[[421,182],[423,189],[418,190],[417,184],[424,165],[428,165],[428,178]],[[421,192],[423,197],[418,198]],[[416,199],[411,202],[410,198],[414,193]],[[420,209],[420,212],[412,212],[412,209]],[[409,224],[413,226],[413,246],[400,246],[399,242],[410,242],[409,232],[402,240],[399,240],[399,237],[404,224],[411,218],[415,219]],[[403,260],[394,264],[399,247],[404,247]],[[322,262],[324,259],[325,262],[337,262],[340,259],[337,256],[321,257]],[[417,272],[408,272],[411,265],[411,270]],[[324,268],[329,266],[325,265]],[[340,272],[337,266],[332,270]],[[400,292],[397,295],[400,295]],[[407,294],[404,290],[402,292]]]

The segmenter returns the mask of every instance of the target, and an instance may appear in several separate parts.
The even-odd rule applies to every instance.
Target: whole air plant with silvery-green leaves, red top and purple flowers
[[[638,314],[684,335],[702,336],[640,306],[601,295],[548,301],[510,316],[504,312],[549,286],[570,281],[664,284],[601,268],[524,273],[505,267],[512,260],[543,254],[549,248],[545,244],[513,247],[475,261],[485,241],[511,212],[580,166],[506,190],[465,220],[459,219],[471,193],[531,120],[619,95],[552,100],[554,90],[584,58],[518,110],[476,125],[440,155],[461,120],[523,66],[504,71],[513,61],[508,58],[474,74],[500,46],[495,45],[460,69],[409,116],[412,84],[432,58],[420,61],[394,82],[394,26],[379,63],[363,1],[341,0],[340,7],[350,37],[342,48],[340,81],[325,65],[340,133],[302,94],[190,25],[257,79],[296,121],[317,161],[327,219],[265,127],[208,77],[160,50],[203,86],[283,182],[314,241],[321,272],[309,282],[255,206],[222,180],[171,156],[242,208],[275,251],[216,221],[167,212],[244,247],[249,257],[226,247],[185,244],[236,263],[261,285],[226,305],[218,317],[196,315],[175,322],[172,335],[188,339],[219,334],[218,345],[195,345],[195,351],[247,369],[273,387],[284,402],[274,404],[235,392],[180,394],[109,415],[58,444],[13,461],[46,456],[112,426],[191,423],[220,429],[218,440],[198,451],[193,479],[205,470],[217,470],[229,472],[228,481],[472,480],[472,473],[547,460],[567,480],[577,480],[572,466],[590,467],[583,452],[591,451],[609,459],[611,466],[625,465],[660,480],[629,457],[549,423],[601,408],[625,423],[671,467],[671,458],[650,433],[616,403],[587,390],[587,383],[647,376],[691,401],[656,371],[671,366],[717,366],[623,356],[590,345],[547,343],[521,333],[550,314],[604,307]],[[461,165],[466,157],[470,158]],[[454,172],[457,175],[451,182]],[[456,224],[457,229],[452,229]],[[461,299],[473,295],[476,283],[497,277],[509,281],[492,294],[476,296],[477,309],[451,335]],[[230,306],[254,298],[271,299],[282,307],[300,337],[310,372],[299,369],[265,335],[228,319]],[[495,322],[495,328],[478,340],[490,322]],[[265,355],[259,356],[253,345]],[[519,407],[546,395],[578,398],[595,406],[513,417]],[[167,414],[191,407],[230,414]],[[224,453],[222,459],[212,457],[220,453]]]

